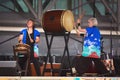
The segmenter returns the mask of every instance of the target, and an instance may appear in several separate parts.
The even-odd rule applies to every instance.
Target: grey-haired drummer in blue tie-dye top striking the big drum
[[[84,44],[83,51],[80,58],[77,58],[76,70],[79,75],[87,72],[90,64],[94,63],[95,68],[99,74],[108,73],[105,65],[100,60],[101,55],[101,43],[100,43],[100,31],[97,28],[98,21],[96,18],[88,19],[88,27],[86,29],[82,29],[80,27],[81,20],[77,20],[77,34],[80,35],[80,32],[85,33],[84,35]],[[79,63],[78,63],[79,61]]]

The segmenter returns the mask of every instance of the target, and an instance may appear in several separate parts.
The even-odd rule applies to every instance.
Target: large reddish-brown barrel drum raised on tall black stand
[[[46,11],[42,17],[42,26],[46,32],[70,32],[74,26],[74,16],[70,10]]]

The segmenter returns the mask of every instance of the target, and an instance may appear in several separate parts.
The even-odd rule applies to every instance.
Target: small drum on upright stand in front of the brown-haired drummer
[[[14,51],[14,59],[16,60],[19,75],[21,76],[21,74],[24,73],[24,76],[27,76],[28,67],[30,65],[30,46],[27,44],[17,44],[13,46],[13,51]],[[27,56],[25,69],[21,69],[19,65],[19,57],[18,57],[19,54],[23,56]]]

